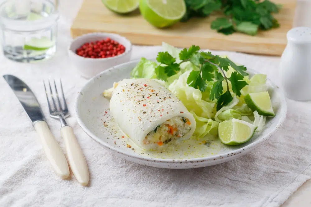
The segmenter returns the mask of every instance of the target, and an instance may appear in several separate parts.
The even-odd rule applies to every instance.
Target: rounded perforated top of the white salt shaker
[[[287,32],[287,40],[295,43],[311,43],[311,28],[295,27]]]

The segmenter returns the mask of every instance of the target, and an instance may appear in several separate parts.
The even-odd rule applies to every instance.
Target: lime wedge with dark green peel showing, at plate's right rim
[[[244,101],[249,108],[258,111],[262,116],[275,116],[269,93],[267,91],[259,93],[249,93],[244,97]]]

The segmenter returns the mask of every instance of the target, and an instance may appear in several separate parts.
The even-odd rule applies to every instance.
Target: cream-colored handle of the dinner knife
[[[35,123],[34,127],[39,134],[44,152],[48,157],[55,173],[60,178],[68,178],[69,167],[66,157],[50,131],[48,124],[45,121],[38,121]]]

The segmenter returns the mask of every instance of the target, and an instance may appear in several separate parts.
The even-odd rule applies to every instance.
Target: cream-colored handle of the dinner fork
[[[89,182],[89,170],[73,129],[70,126],[64,126],[60,129],[60,133],[65,142],[67,158],[72,173],[82,186],[86,186]]]

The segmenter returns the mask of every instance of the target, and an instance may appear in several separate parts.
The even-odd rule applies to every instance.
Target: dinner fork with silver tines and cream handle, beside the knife
[[[86,160],[84,158],[83,152],[79,146],[76,136],[73,133],[73,129],[67,125],[66,120],[65,120],[65,118],[69,116],[69,111],[68,111],[68,107],[67,107],[66,100],[65,100],[62,81],[60,80],[60,88],[62,91],[63,106],[59,99],[55,80],[53,82],[54,82],[55,93],[52,92],[51,83],[49,81],[49,85],[48,85],[49,92],[50,92],[49,94],[49,92],[46,89],[45,83],[43,81],[46,99],[48,101],[50,116],[53,119],[60,120],[60,123],[61,123],[60,132],[65,142],[65,148],[67,151],[67,158],[69,161],[70,168],[72,170],[72,173],[76,177],[77,181],[82,186],[86,186],[87,183],[89,182],[89,171],[87,168],[87,164],[86,164]],[[50,104],[49,95],[52,99],[53,107]],[[56,102],[55,99],[57,100],[58,104],[55,103]]]

